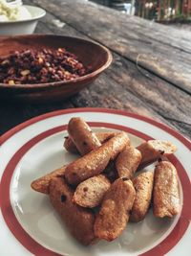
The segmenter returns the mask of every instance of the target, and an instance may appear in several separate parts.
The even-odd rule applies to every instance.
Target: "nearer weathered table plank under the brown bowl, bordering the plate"
[[[67,24],[59,27],[59,20],[47,15],[39,22],[36,33],[53,33],[86,37]],[[145,70],[139,71],[136,64],[113,54],[114,62],[111,67],[93,84],[79,94],[63,103],[52,105],[18,105],[1,104],[0,113],[4,116],[0,120],[0,132],[4,132],[15,125],[42,113],[59,108],[79,106],[102,106],[126,109],[139,114],[151,116],[169,126],[177,128],[187,137],[191,137],[189,111],[189,96],[160,80]],[[142,74],[143,73],[143,74]],[[171,92],[171,98],[169,97]]]

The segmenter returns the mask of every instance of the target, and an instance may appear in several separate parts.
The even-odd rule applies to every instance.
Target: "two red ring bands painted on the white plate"
[[[178,132],[175,130],[168,128],[154,120],[151,120],[146,117],[139,116],[137,114],[128,113],[121,110],[115,110],[115,109],[104,109],[104,108],[80,108],[80,109],[66,109],[66,110],[58,110],[54,111],[36,118],[33,118],[32,120],[29,120],[16,128],[12,128],[10,131],[8,131],[6,134],[4,134],[1,137],[1,144],[4,143],[6,140],[8,140],[13,134],[20,131],[23,128],[26,128],[33,123],[36,123],[38,121],[44,120],[49,117],[65,114],[65,113],[76,113],[76,112],[108,112],[108,113],[115,113],[115,114],[122,114],[125,116],[133,117],[139,120],[146,121],[152,125],[155,125],[159,128],[162,128],[163,130],[169,132],[170,134],[177,137],[188,149],[191,148],[191,144],[188,140],[186,140],[184,137],[182,137]],[[125,130],[129,133],[132,133],[134,135],[137,135],[138,137],[148,140],[151,139],[151,137],[147,136],[146,134],[139,132],[138,130],[132,129],[132,128],[126,128],[122,126],[117,126],[114,124],[108,124],[108,123],[90,123],[91,126],[94,127],[106,127],[106,128],[117,128],[121,130]],[[4,194],[3,200],[0,198],[1,201],[1,208],[2,213],[4,216],[5,221],[7,222],[9,228],[11,229],[11,232],[15,236],[15,238],[23,244],[25,247],[27,247],[32,253],[35,253],[35,255],[42,255],[42,253],[46,253],[46,255],[59,255],[45,247],[43,247],[41,244],[38,244],[35,242],[32,237],[22,228],[19,221],[17,221],[16,217],[14,216],[13,210],[11,208],[11,199],[10,199],[10,184],[11,184],[11,175],[13,174],[14,168],[17,165],[18,161],[22,158],[22,156],[29,151],[32,146],[34,146],[37,142],[40,140],[53,135],[56,132],[62,131],[66,129],[66,126],[61,126],[57,128],[52,128],[49,130],[46,130],[45,132],[42,132],[32,138],[32,140],[28,141],[24,146],[22,146],[11,158],[11,161],[9,162],[8,166],[6,167],[4,174],[2,175],[1,180],[1,186],[0,195]],[[149,255],[153,256],[156,255],[163,255],[164,253],[168,252],[172,247],[174,247],[178,242],[180,241],[181,237],[185,233],[189,221],[191,219],[191,212],[189,211],[189,195],[191,192],[190,187],[190,180],[187,176],[185,170],[183,169],[182,165],[180,164],[180,161],[175,157],[171,157],[171,161],[176,165],[177,169],[179,170],[179,176],[180,176],[180,182],[182,185],[183,190],[183,207],[180,214],[180,219],[178,223],[176,224],[175,228],[171,231],[171,233],[157,246],[153,247],[152,249],[148,250],[147,252],[141,254],[143,255]],[[3,194],[2,194],[3,192]]]

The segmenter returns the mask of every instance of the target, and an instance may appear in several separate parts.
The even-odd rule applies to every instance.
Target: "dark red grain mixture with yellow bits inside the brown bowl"
[[[0,82],[10,85],[70,81],[88,73],[64,48],[15,51],[0,58]]]

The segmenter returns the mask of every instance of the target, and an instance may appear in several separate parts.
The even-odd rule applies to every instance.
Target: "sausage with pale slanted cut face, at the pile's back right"
[[[137,147],[141,152],[142,159],[138,166],[138,170],[154,163],[161,155],[170,155],[177,151],[177,147],[169,141],[149,140],[143,142]]]

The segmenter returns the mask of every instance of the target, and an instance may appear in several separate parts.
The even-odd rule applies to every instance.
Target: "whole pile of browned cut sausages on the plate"
[[[177,170],[167,156],[176,147],[149,140],[137,148],[128,134],[97,132],[81,118],[72,118],[65,138],[67,151],[80,158],[32,182],[32,189],[49,195],[53,207],[81,244],[113,241],[128,221],[142,221],[153,205],[154,216],[180,212]],[[137,171],[158,161],[152,171]]]

